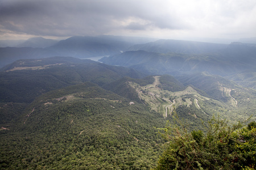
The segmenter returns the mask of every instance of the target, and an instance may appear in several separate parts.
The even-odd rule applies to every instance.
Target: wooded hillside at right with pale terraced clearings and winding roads
[[[153,79],[153,81],[152,81]],[[209,74],[178,77],[170,75],[147,78],[123,78],[106,84],[104,88],[147,105],[151,111],[171,118],[174,108],[188,124],[200,128],[200,121],[207,122],[214,114],[220,114],[230,122],[237,118],[255,118],[256,93]]]

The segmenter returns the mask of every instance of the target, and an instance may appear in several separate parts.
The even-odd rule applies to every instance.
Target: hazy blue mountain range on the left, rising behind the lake
[[[18,41],[16,44],[14,43],[16,41],[12,41],[9,43],[9,47],[0,48],[0,67],[17,59],[54,56],[77,58],[109,56],[121,53],[136,43],[145,43],[153,40],[155,39],[143,37],[75,36],[61,41],[43,39],[42,37]],[[1,42],[4,41],[0,41],[0,44]]]

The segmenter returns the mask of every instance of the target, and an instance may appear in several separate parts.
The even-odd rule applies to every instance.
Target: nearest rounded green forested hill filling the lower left
[[[0,167],[150,169],[163,144],[153,127],[164,119],[129,103],[92,83],[48,92],[0,131]]]

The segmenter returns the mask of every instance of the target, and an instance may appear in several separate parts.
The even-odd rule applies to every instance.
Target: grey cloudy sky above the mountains
[[[256,37],[255,0],[0,0],[0,40]]]

